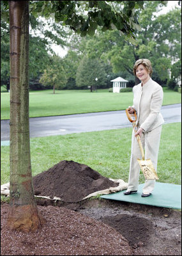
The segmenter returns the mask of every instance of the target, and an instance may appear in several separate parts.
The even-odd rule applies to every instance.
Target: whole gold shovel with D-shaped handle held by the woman
[[[137,133],[137,125],[136,125],[136,122],[135,122],[137,120],[137,115],[136,115],[135,109],[134,109],[133,114],[131,115],[128,112],[128,108],[127,108],[126,109],[126,116],[128,117],[128,120],[130,122],[132,122],[133,129],[134,129],[135,133]],[[137,159],[137,161],[139,162],[140,169],[144,173],[145,179],[146,180],[158,180],[158,176],[156,174],[156,171],[155,171],[155,168],[153,166],[153,163],[152,163],[151,159],[146,159],[145,160],[144,150],[143,150],[142,143],[141,143],[139,135],[137,135],[137,141],[139,143],[140,152],[142,154],[142,160]]]

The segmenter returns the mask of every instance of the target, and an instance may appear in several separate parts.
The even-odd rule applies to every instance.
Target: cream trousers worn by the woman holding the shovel
[[[138,127],[139,128],[139,127]],[[145,152],[145,159],[151,159],[155,170],[157,171],[158,150],[160,145],[160,134],[162,125],[156,127],[152,131],[142,133],[140,140]],[[135,132],[132,133],[132,152],[130,158],[130,173],[128,179],[127,191],[137,190],[139,186],[140,166],[137,159],[142,159],[139,148],[139,143],[135,137]],[[146,180],[142,192],[144,194],[152,193],[155,187],[155,180]]]

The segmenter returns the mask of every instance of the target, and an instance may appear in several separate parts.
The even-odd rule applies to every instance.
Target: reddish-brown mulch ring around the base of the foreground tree
[[[36,232],[6,227],[9,205],[1,205],[1,255],[132,255],[128,241],[114,228],[79,212],[38,205],[45,220]]]

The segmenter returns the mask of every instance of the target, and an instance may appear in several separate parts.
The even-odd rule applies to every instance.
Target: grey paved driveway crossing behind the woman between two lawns
[[[162,106],[165,124],[181,122],[181,104]],[[132,127],[125,110],[30,118],[30,136],[43,137]],[[1,141],[10,140],[10,120],[1,120]]]

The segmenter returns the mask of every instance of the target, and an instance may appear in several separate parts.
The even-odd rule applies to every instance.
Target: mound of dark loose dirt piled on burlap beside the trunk
[[[86,164],[66,160],[33,177],[34,195],[56,196],[63,202],[79,202],[91,193],[116,186],[118,183]]]

